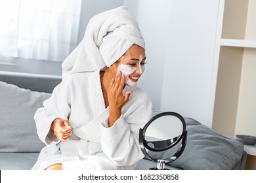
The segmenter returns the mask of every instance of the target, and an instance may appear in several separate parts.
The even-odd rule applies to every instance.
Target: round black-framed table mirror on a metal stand
[[[146,158],[158,162],[158,167],[152,169],[164,169],[165,163],[179,158],[186,146],[186,135],[186,123],[180,114],[162,112],[151,118],[144,128],[140,129],[139,142]],[[160,153],[171,148],[175,149],[175,152],[170,153],[167,158],[156,159],[150,154],[150,151]]]

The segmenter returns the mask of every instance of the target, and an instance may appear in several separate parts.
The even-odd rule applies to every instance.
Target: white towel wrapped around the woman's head
[[[127,7],[97,14],[89,21],[83,40],[62,63],[62,76],[109,67],[133,44],[145,47],[139,25]]]

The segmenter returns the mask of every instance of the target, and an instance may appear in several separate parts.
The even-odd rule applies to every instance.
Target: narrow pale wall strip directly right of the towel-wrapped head
[[[160,109],[172,1],[127,0],[124,4],[136,16],[146,42],[146,70],[139,86],[149,93],[154,108]]]

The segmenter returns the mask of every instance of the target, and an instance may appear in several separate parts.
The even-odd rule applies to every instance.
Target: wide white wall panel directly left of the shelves
[[[215,0],[173,1],[161,98],[161,110],[175,110],[209,127],[218,6]]]

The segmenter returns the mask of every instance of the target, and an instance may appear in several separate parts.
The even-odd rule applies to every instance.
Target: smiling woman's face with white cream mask
[[[121,71],[125,75],[125,84],[133,87],[145,70],[145,50],[144,48],[133,44],[123,56],[119,59],[117,64],[117,72]]]

